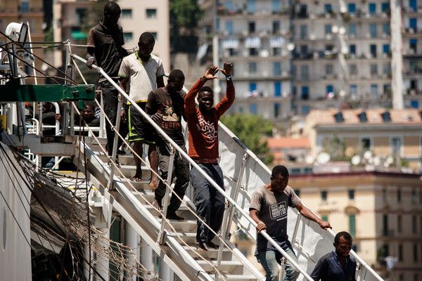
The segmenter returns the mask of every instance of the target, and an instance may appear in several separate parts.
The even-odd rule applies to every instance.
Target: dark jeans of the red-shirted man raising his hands
[[[224,190],[223,172],[218,164],[198,164]],[[191,170],[191,184],[195,190],[196,214],[207,223],[215,233],[222,226],[224,215],[224,196],[200,174],[198,169]],[[196,240],[209,242],[214,238],[214,233],[203,223],[198,221]]]

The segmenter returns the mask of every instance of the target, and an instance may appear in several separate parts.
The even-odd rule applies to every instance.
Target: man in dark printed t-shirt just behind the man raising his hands
[[[184,74],[181,70],[170,72],[167,86],[151,91],[146,102],[146,113],[156,122],[172,140],[186,152],[184,136],[181,127],[181,117],[184,117],[184,96],[181,95],[181,89],[184,84]],[[184,117],[185,118],[185,117]],[[161,178],[167,179],[170,161],[170,145],[165,139],[157,133],[156,138],[158,152],[158,166],[160,166]],[[174,183],[174,192],[181,198],[184,197],[189,183],[189,162],[181,157],[179,152],[174,155],[174,173],[176,182]],[[162,198],[165,195],[166,185],[162,181],[155,190],[154,207],[161,209]],[[177,216],[181,201],[172,195],[169,207],[167,209],[167,218],[183,221],[184,218]]]

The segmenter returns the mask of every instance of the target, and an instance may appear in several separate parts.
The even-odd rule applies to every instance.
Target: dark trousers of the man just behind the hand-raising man
[[[186,152],[186,148],[184,146],[180,146],[184,152]],[[158,152],[158,166],[160,167],[160,176],[162,179],[167,180],[167,174],[169,172],[169,164],[170,164],[170,152],[168,149],[165,148],[165,145],[157,145],[157,152]],[[174,164],[173,164],[173,174],[172,178],[176,177],[176,181],[174,182],[173,191],[183,199],[185,195],[186,188],[189,184],[189,162],[188,160],[182,158],[179,155],[179,152],[175,152],[174,154]],[[167,186],[165,183],[160,181],[158,183],[158,188],[155,190],[155,200],[158,201],[158,204],[162,206],[162,198],[165,196],[165,189]],[[170,199],[170,204],[167,209],[167,213],[174,213],[179,209],[181,201],[179,198],[172,194],[172,198]]]

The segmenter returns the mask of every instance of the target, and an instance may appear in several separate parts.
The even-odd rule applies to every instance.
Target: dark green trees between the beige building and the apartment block
[[[170,45],[173,52],[196,53],[203,11],[197,0],[170,0]]]

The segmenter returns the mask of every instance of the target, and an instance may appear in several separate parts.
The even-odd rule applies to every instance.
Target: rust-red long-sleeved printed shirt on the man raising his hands
[[[204,82],[198,79],[185,97],[185,114],[188,122],[189,156],[200,163],[217,163],[218,120],[234,102],[234,86],[227,81],[226,96],[212,107],[208,114],[195,107],[195,97]]]

